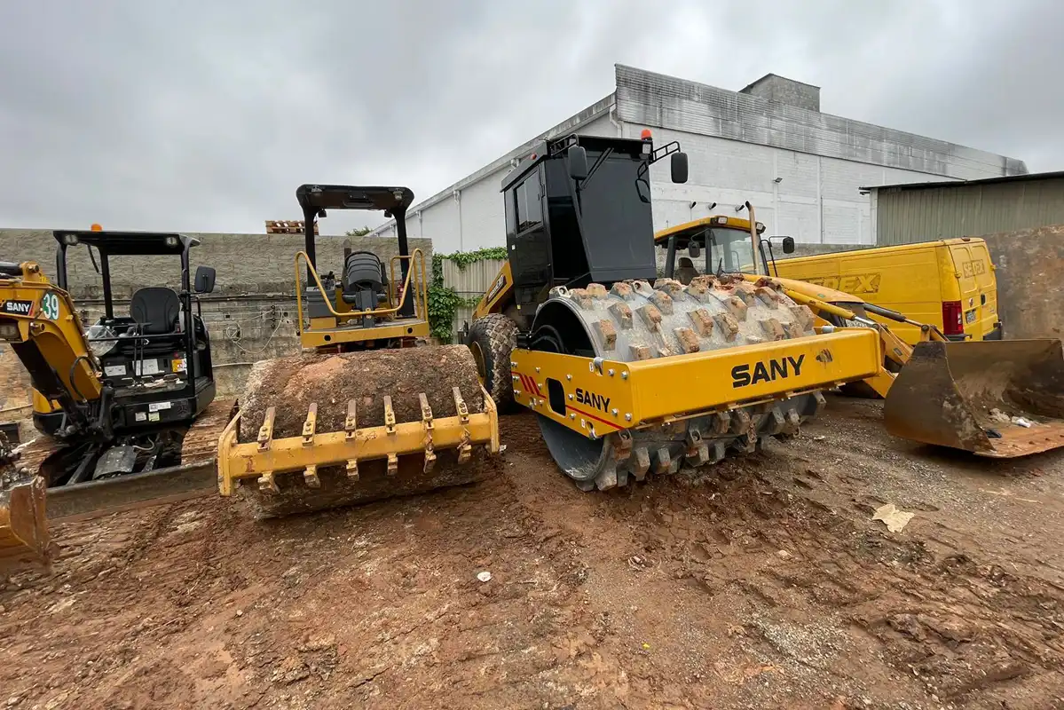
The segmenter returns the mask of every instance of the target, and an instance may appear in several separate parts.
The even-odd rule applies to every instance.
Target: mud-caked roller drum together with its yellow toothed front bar
[[[479,480],[499,450],[495,403],[464,346],[256,363],[218,443],[218,490],[256,517]]]

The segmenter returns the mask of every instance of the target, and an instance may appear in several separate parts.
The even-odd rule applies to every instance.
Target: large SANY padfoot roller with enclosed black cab
[[[701,466],[786,437],[820,390],[877,371],[869,330],[814,332],[769,282],[655,278],[649,170],[679,145],[570,135],[503,179],[509,260],[464,333],[500,408],[538,415],[583,490]]]

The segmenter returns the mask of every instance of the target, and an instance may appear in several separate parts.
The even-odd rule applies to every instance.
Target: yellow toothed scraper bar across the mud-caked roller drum
[[[355,401],[347,404],[344,431],[318,433],[317,404],[311,404],[299,436],[273,439],[275,408],[266,410],[265,419],[254,443],[237,443],[240,413],[230,420],[218,441],[218,492],[232,495],[236,483],[255,479],[260,490],[277,492],[275,474],[303,472],[303,480],[311,488],[320,485],[320,466],[344,465],[350,480],[359,480],[359,463],[386,460],[387,474],[398,470],[399,457],[423,453],[425,472],[432,469],[435,451],[458,449],[459,463],[465,463],[472,453],[472,446],[484,444],[488,451],[499,451],[499,417],[491,395],[481,387],[484,411],[470,414],[454,387],[452,396],[458,415],[434,418],[428,398],[422,394],[421,419],[396,423],[392,398],[384,397],[384,424],[379,427],[358,427]]]

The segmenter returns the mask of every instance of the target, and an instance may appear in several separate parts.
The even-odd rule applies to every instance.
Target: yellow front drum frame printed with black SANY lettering
[[[617,362],[516,349],[515,401],[588,437],[863,380],[880,369],[875,330]]]

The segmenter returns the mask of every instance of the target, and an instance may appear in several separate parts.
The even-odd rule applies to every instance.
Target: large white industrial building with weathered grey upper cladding
[[[766,75],[739,92],[616,65],[616,89],[408,213],[437,253],[503,246],[502,177],[536,139],[566,133],[679,141],[686,184],[651,171],[654,229],[749,200],[768,234],[807,244],[875,244],[861,186],[1024,175],[1023,161],[820,113],[817,86]],[[373,234],[388,235],[394,222]]]

